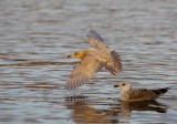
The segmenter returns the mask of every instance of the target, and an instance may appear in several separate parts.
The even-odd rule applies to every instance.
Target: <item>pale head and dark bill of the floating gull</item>
[[[132,89],[132,84],[128,82],[121,82],[118,84],[115,84],[114,87],[119,87],[123,91],[129,91]]]

